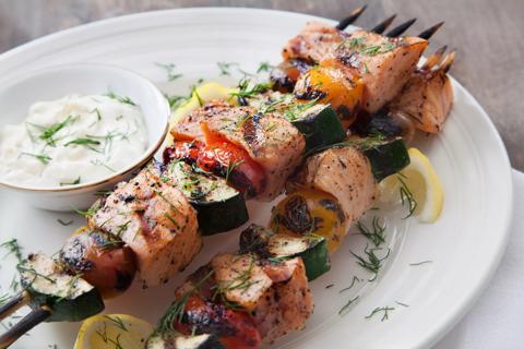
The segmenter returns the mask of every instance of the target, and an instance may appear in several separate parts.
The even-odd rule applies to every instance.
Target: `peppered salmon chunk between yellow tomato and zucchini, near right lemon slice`
[[[354,147],[334,147],[309,157],[288,182],[288,190],[306,186],[336,197],[346,224],[358,220],[377,196],[368,158]]]

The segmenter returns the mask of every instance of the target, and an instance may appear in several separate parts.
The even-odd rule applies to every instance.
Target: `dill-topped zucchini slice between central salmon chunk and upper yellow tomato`
[[[314,100],[299,103],[291,94],[271,92],[249,100],[261,111],[275,111],[289,120],[306,140],[306,152],[324,147],[346,137],[335,110],[330,105]]]

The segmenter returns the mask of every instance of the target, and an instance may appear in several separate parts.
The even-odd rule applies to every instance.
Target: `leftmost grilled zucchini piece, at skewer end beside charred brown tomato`
[[[48,322],[81,321],[104,310],[94,286],[80,275],[69,275],[60,263],[41,253],[31,254],[17,268],[21,285],[31,294],[31,308],[51,310]]]

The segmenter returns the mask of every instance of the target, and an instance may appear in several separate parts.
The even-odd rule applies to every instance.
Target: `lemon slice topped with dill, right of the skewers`
[[[422,222],[434,222],[442,212],[444,192],[431,161],[417,148],[408,151],[410,164],[379,185],[383,202],[404,201]]]

